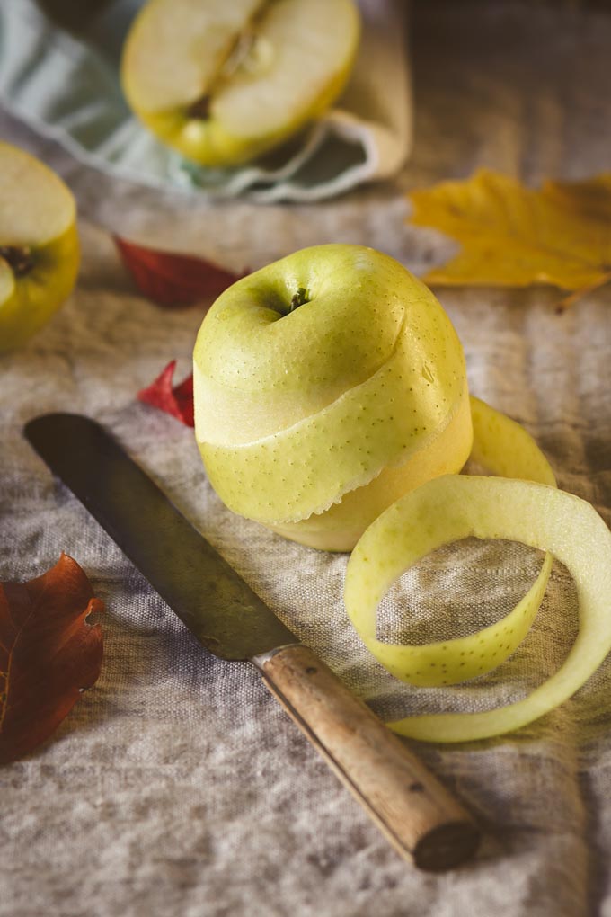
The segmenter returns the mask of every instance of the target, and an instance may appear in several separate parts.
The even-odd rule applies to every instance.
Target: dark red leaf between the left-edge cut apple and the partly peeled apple
[[[191,305],[215,298],[244,277],[193,255],[148,249],[115,236],[115,245],[141,293],[159,305]]]

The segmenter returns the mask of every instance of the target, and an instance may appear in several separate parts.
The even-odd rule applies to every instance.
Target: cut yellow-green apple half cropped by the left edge
[[[24,344],[59,309],[79,260],[71,192],[34,156],[0,142],[0,351]]]

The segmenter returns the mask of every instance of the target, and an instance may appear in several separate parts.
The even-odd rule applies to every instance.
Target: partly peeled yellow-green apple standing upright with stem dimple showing
[[[398,261],[362,246],[303,249],[236,282],[202,323],[193,381],[214,490],[311,547],[350,550],[471,449],[450,320]]]

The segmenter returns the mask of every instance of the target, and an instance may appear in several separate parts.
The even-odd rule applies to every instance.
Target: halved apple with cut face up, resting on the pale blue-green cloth
[[[359,26],[353,0],[150,0],[125,42],[125,96],[188,159],[239,164],[331,105]]]

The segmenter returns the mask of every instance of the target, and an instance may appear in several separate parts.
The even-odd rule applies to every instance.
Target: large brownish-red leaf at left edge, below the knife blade
[[[101,612],[76,560],[26,583],[0,583],[0,764],[44,742],[102,667]]]

